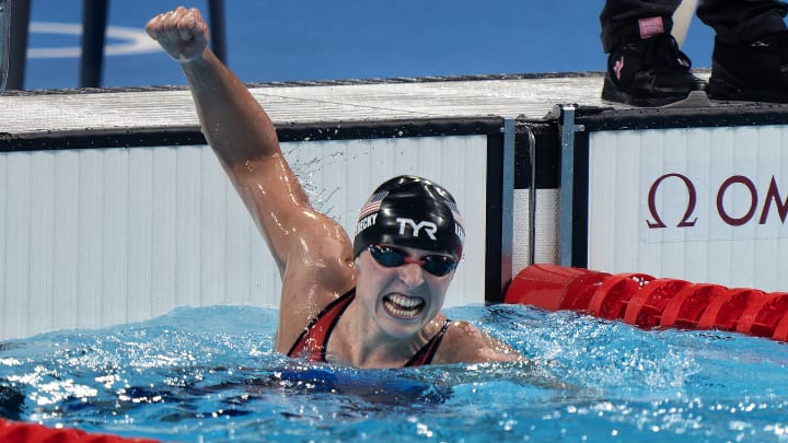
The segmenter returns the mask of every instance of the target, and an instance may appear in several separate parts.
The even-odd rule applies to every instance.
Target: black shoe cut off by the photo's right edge
[[[788,31],[738,45],[715,40],[709,97],[788,103]]]

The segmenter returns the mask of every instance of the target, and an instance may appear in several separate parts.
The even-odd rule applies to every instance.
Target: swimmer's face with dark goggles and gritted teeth
[[[454,263],[453,257],[443,254],[390,245],[373,245],[358,256],[356,294],[370,317],[389,335],[409,337],[443,307],[454,266],[444,269],[445,264],[434,260]],[[394,266],[398,263],[402,264]]]

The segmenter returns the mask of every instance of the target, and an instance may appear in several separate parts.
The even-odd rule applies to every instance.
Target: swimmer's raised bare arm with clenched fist
[[[196,9],[159,14],[148,34],[175,59],[189,83],[202,132],[265,236],[280,273],[296,263],[304,268],[305,250],[327,242],[351,254],[344,231],[313,210],[287,160],[276,129],[246,86],[208,47],[208,26]],[[336,255],[337,252],[335,250]],[[347,284],[344,284],[347,285]]]

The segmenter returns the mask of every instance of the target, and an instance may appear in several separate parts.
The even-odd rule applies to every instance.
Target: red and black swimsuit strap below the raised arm
[[[356,288],[328,303],[317,316],[310,320],[292,348],[290,348],[290,351],[288,351],[288,357],[305,357],[309,361],[326,361],[328,337],[334,330],[334,326],[339,322],[339,317],[355,298]]]

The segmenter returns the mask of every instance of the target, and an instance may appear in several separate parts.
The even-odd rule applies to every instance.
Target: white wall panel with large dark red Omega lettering
[[[788,289],[788,126],[591,132],[588,267]]]

